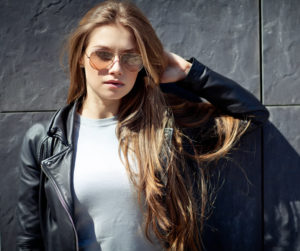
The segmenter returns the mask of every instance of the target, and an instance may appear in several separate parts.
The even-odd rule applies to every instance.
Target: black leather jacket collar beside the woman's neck
[[[64,145],[73,145],[73,125],[77,105],[78,100],[58,110],[48,128],[48,135],[55,135]]]

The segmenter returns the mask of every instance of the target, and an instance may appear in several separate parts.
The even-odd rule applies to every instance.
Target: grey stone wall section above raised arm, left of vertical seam
[[[259,97],[259,2],[135,0],[167,50],[204,64]]]

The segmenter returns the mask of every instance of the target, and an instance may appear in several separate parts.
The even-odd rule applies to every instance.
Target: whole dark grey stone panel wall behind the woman
[[[97,2],[0,1],[1,250],[15,244],[20,142],[30,125],[65,103],[62,44]],[[270,123],[246,135],[234,163],[222,169],[224,184],[211,219],[215,250],[299,250],[300,2],[134,2],[167,50],[194,56],[236,80],[271,113]]]

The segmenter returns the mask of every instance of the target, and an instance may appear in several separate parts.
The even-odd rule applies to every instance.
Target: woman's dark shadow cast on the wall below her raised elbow
[[[219,166],[223,185],[207,222],[206,250],[300,250],[299,154],[270,122],[239,147],[234,161]]]

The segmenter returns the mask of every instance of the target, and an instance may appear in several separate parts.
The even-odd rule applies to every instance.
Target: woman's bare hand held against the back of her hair
[[[179,55],[165,51],[167,67],[161,76],[161,83],[176,82],[186,77],[192,64]]]

